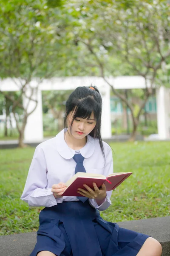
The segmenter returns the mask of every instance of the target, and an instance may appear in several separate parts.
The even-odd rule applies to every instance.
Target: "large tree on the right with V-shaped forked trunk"
[[[153,94],[159,70],[170,57],[168,1],[135,0],[128,3],[91,0],[86,5],[84,2],[77,3],[75,9],[79,24],[72,31],[73,39],[81,45],[82,52],[86,47],[91,56],[88,58],[84,54],[82,62],[98,68],[98,75],[130,109],[133,120],[131,140],[134,140],[140,115],[147,99]],[[116,73],[117,67],[111,65],[115,59],[119,59],[121,67],[126,63],[131,74],[144,78],[144,99],[136,115],[131,102],[114,88],[108,78]],[[120,70],[121,73],[124,71]]]

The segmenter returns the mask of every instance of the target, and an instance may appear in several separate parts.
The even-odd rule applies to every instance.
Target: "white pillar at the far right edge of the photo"
[[[157,126],[160,140],[170,139],[170,89],[156,90]]]

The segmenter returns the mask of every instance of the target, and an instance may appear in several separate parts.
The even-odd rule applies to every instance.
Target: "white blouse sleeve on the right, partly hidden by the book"
[[[105,156],[105,161],[106,163],[105,163],[103,175],[107,177],[109,174],[113,173],[113,156],[112,156],[112,149],[109,145],[108,145],[107,154]],[[111,205],[110,199],[111,199],[112,192],[113,192],[112,190],[106,192],[107,196],[105,198],[105,201],[101,205],[98,205],[96,203],[96,200],[91,198],[88,199],[89,204],[91,204],[92,207],[98,209],[99,211],[104,211],[108,209],[108,207]]]

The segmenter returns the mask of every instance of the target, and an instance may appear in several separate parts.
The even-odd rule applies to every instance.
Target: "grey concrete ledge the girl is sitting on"
[[[153,236],[162,245],[162,256],[170,256],[170,216],[123,221],[118,224],[120,227]],[[36,243],[36,236],[36,232],[0,236],[0,256],[29,256]]]

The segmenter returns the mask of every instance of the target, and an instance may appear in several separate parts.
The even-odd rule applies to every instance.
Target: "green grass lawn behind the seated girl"
[[[101,215],[126,221],[170,215],[170,142],[112,143],[114,172],[133,172]],[[34,148],[0,150],[0,235],[37,231],[43,207],[20,200]]]

